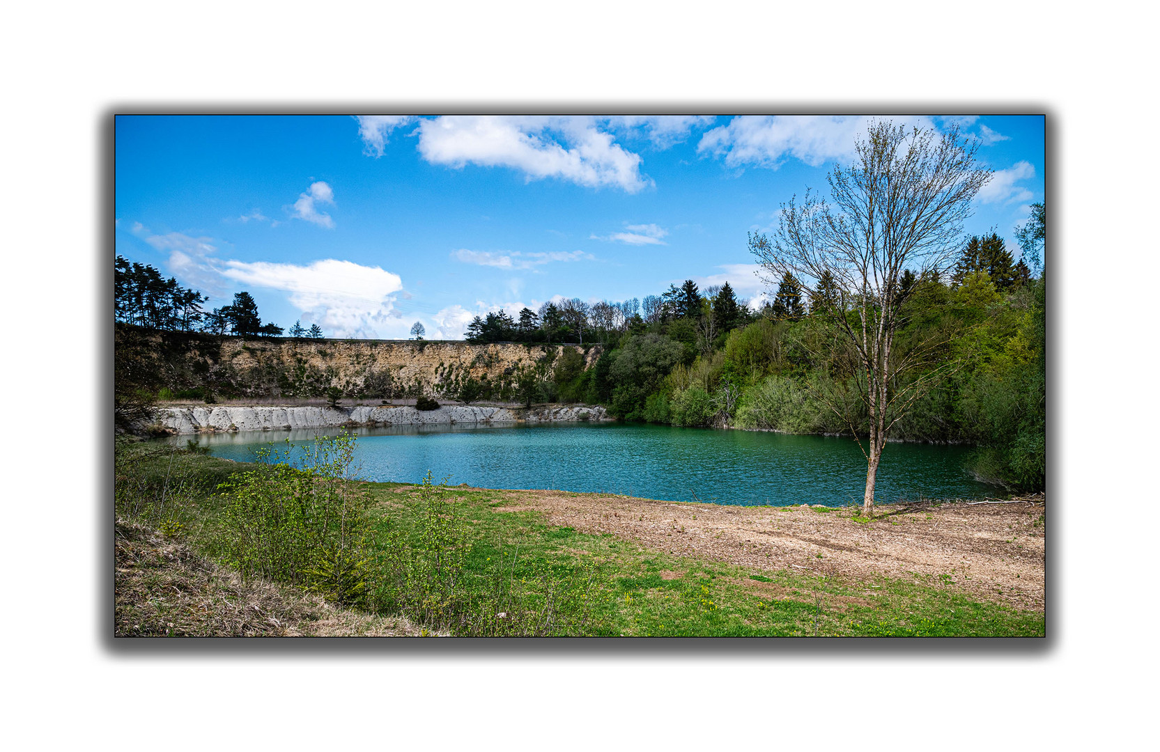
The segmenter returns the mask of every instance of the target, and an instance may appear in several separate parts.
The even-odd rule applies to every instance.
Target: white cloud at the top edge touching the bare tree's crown
[[[854,145],[877,116],[742,115],[708,131],[697,144],[702,155],[722,158],[726,167],[777,169],[789,158],[819,167],[854,159]],[[898,125],[934,127],[926,117],[890,118]]]

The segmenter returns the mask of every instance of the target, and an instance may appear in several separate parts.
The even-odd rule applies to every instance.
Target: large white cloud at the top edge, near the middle
[[[589,117],[459,116],[423,119],[419,153],[433,165],[508,167],[524,180],[556,177],[635,194],[652,185],[640,155],[625,151]]]

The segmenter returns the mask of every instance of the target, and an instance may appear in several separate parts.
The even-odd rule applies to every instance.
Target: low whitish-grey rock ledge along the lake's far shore
[[[158,423],[171,433],[219,431],[268,431],[334,428],[341,425],[427,425],[438,423],[552,423],[608,421],[602,407],[567,406],[552,408],[441,407],[416,410],[412,407],[278,407],[209,406],[161,408]]]

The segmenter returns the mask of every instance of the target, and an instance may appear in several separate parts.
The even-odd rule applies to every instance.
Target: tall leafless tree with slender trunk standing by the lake
[[[991,180],[991,170],[976,161],[977,148],[978,141],[967,141],[957,129],[938,134],[873,123],[855,147],[854,163],[836,166],[827,176],[829,202],[806,191],[800,203],[795,197],[782,205],[771,238],[749,236],[766,284],[789,272],[812,299],[826,300],[814,294],[819,280],[828,273],[836,283],[827,313],[865,375],[868,516],[890,429],[937,374],[936,367],[906,385],[899,381],[915,366],[930,365],[925,360],[930,350],[921,348],[896,357],[894,335],[913,290],[900,284],[902,272],[941,275],[954,261],[971,199]]]

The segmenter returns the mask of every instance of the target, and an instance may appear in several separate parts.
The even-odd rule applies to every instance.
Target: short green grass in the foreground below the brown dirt
[[[377,524],[413,533],[416,488],[372,484]],[[1042,636],[1043,615],[976,601],[930,584],[846,582],[768,572],[645,550],[609,534],[505,511],[485,490],[447,491],[470,539],[462,586],[494,592],[568,583],[582,592],[580,634],[599,636]],[[563,634],[568,634],[565,629]]]

